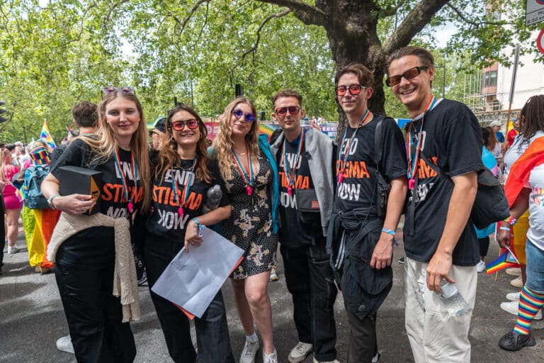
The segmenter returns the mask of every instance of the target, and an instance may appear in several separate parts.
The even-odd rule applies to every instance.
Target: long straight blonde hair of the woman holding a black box
[[[130,139],[130,150],[136,157],[138,164],[138,172],[140,174],[140,185],[143,188],[144,200],[142,201],[142,212],[147,211],[151,201],[151,171],[149,168],[149,151],[147,145],[147,124],[145,123],[144,111],[137,96],[132,93],[113,91],[106,94],[100,105],[98,105],[98,138],[79,138],[89,145],[96,153],[96,156],[91,162],[101,164],[110,160],[113,155],[113,150],[117,147],[115,133],[111,126],[106,122],[106,106],[114,99],[122,98],[135,103],[138,113],[140,114],[140,122],[138,128]]]

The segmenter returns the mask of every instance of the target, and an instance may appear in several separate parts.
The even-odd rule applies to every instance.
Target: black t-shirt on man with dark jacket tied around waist
[[[392,180],[406,174],[406,147],[404,138],[397,123],[391,118],[374,115],[372,121],[358,129],[347,127],[341,138],[335,154],[336,196],[334,211],[351,211],[353,208],[373,207],[373,215],[377,209],[377,179],[376,164],[374,162],[374,139],[376,124],[382,120],[382,160],[380,172],[386,179]],[[349,140],[354,132],[356,137]],[[344,166],[346,152],[349,152],[344,169],[344,180],[339,182],[339,174]]]

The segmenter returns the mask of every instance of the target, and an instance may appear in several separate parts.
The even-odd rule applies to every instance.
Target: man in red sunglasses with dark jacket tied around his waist
[[[341,67],[335,77],[336,101],[348,122],[334,155],[336,195],[327,248],[348,315],[347,363],[380,359],[376,318],[392,287],[395,231],[407,191],[406,160],[399,156],[402,133],[395,120],[368,109],[373,79],[361,63]]]

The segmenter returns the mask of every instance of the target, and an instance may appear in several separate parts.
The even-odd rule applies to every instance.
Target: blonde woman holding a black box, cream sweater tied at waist
[[[129,321],[140,319],[140,307],[131,235],[145,226],[138,220],[151,197],[147,126],[134,92],[105,91],[98,125],[96,138],[75,139],[42,182],[47,203],[62,211],[47,257],[56,261],[77,361],[133,362]],[[60,184],[69,183],[67,166],[101,172],[100,203],[87,193],[59,194]]]

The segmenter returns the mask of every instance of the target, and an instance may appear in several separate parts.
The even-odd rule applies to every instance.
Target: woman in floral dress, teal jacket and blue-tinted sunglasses
[[[249,99],[234,99],[225,108],[211,151],[232,202],[232,214],[221,225],[222,235],[245,251],[231,276],[246,333],[240,363],[253,363],[259,350],[254,322],[263,339],[263,362],[277,363],[267,289],[278,246],[278,170],[266,135],[259,137],[255,115]]]

